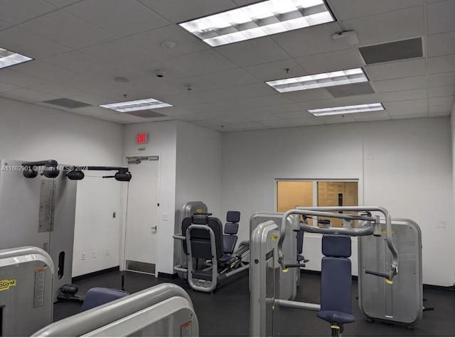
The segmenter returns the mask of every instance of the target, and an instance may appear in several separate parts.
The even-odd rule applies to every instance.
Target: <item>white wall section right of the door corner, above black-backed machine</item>
[[[209,212],[222,222],[221,210],[221,133],[177,121],[176,232],[181,231],[180,210],[189,201],[203,201]],[[178,261],[181,242],[174,245]]]

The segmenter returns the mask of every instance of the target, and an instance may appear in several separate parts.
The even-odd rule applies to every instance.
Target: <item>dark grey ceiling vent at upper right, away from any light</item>
[[[358,48],[367,65],[372,63],[420,58],[423,56],[422,38],[368,45]]]

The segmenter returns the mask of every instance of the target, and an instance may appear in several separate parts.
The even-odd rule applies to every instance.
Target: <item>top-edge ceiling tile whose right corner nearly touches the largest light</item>
[[[129,36],[169,23],[137,1],[85,0],[65,7],[65,11],[115,36]]]

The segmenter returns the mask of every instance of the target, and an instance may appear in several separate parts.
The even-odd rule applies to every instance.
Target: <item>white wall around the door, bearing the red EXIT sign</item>
[[[137,145],[137,133],[149,133],[149,143]],[[156,244],[158,245],[156,271],[171,274],[173,273],[172,235],[174,233],[176,207],[176,121],[127,125],[125,126],[124,140],[124,157],[159,156],[160,188],[159,223],[156,231]],[[139,148],[144,148],[144,150],[139,151]],[[124,204],[125,208],[126,205]],[[163,219],[163,214],[168,215],[167,220]],[[124,224],[125,219],[122,222],[122,234],[124,234]],[[120,255],[120,257],[123,257],[122,250]]]

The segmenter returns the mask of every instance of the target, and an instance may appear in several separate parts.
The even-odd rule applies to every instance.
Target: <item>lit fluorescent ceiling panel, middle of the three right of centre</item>
[[[324,72],[315,75],[301,77],[289,77],[288,79],[267,81],[265,83],[277,89],[280,93],[295,92],[296,90],[323,88],[339,86],[341,84],[353,84],[358,82],[368,82],[362,68],[351,70],[338,70],[336,72]]]

